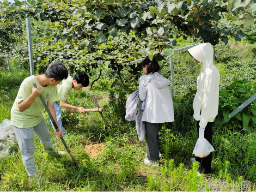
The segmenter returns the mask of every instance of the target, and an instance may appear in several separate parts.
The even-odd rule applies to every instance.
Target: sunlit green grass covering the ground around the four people
[[[198,68],[189,64],[189,57],[178,60],[181,55],[174,57],[180,68],[175,67],[185,77],[176,76],[177,79],[196,77]],[[188,66],[189,72],[183,73],[182,70]],[[225,63],[217,62],[216,66],[222,75],[226,74]],[[164,68],[163,75],[169,76],[168,70]],[[20,77],[14,72],[6,77],[5,74],[0,74],[1,122],[6,118],[10,119],[18,86],[26,75]],[[196,177],[199,165],[190,163],[198,138],[193,118],[194,96],[193,92],[189,97],[177,96],[173,98],[176,120],[166,123],[160,132],[160,148],[163,154],[160,167],[152,168],[143,163],[145,141],[139,142],[135,123],[122,118],[122,88],[114,87],[119,97],[112,97],[111,101],[116,101],[116,105],[110,105],[110,89],[105,84],[108,84],[111,77],[105,76],[107,75],[103,74],[104,78],[96,84],[97,89],[73,90],[68,102],[85,108],[95,108],[90,97],[94,94],[100,107],[105,109],[106,126],[98,113],[67,115],[62,109],[63,125],[68,133],[66,142],[76,154],[80,166],[76,167],[68,154],[60,157],[48,156],[35,137],[37,170],[49,183],[34,183],[29,180],[19,152],[18,156],[1,162],[0,191],[196,191],[197,185],[201,186],[201,181],[218,184],[223,181],[237,181],[240,184],[241,181],[250,181],[251,191],[256,191],[256,132],[243,135],[224,132],[224,127],[214,126],[212,178]],[[44,116],[47,116],[45,112]],[[50,131],[55,150],[64,150],[60,139],[55,137],[52,129]],[[89,156],[85,146],[99,143],[104,144],[103,151],[96,157]],[[232,187],[227,186],[227,189],[226,191],[231,191]]]

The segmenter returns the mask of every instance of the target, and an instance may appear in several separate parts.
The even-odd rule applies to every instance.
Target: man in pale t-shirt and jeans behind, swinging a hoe
[[[67,114],[70,114],[69,109],[75,109],[75,110],[78,110],[80,113],[85,113],[84,112],[85,108],[76,107],[76,106],[68,104],[67,96],[70,94],[70,92],[73,88],[75,90],[82,90],[83,87],[87,87],[89,85],[89,82],[90,82],[89,77],[85,72],[78,72],[74,76],[74,78],[72,78],[71,76],[68,76],[67,79],[62,81],[62,84],[57,85],[59,100],[61,100],[61,107],[67,109]],[[63,132],[63,135],[66,135],[66,132],[63,129],[63,126],[62,126],[61,108],[60,108],[59,102],[55,102],[54,107],[55,107],[56,117],[57,117],[58,123],[60,125],[60,128]],[[48,118],[48,121],[50,121],[49,118]],[[55,130],[52,122],[51,122],[51,125],[52,125],[53,129]]]

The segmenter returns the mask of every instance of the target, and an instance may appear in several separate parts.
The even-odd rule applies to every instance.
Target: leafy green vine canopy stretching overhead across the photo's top
[[[203,42],[227,43],[228,36],[242,40],[244,32],[231,33],[232,21],[256,32],[256,0],[28,0],[0,3],[0,49],[19,40],[26,17],[51,20],[57,28],[42,38],[51,45],[65,36],[76,50],[108,42],[119,33],[134,31],[142,47],[134,55],[150,59],[164,52],[170,56],[174,36],[201,38]]]

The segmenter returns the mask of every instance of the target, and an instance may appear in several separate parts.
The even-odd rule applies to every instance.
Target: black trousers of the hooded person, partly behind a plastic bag
[[[197,132],[198,132],[198,137],[199,137],[199,122],[197,121]],[[204,138],[206,138],[207,141],[209,141],[209,143],[211,145],[213,145],[213,122],[208,122],[207,126],[205,127],[205,131],[204,131]],[[211,173],[211,169],[212,169],[212,159],[213,159],[213,153],[211,152],[210,155],[204,157],[204,158],[199,158],[196,157],[195,160],[197,162],[200,163],[200,167],[199,167],[199,172],[203,173],[203,174],[210,174]]]

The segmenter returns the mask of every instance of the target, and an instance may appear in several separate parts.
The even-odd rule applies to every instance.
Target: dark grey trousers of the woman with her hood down
[[[159,131],[163,123],[149,123],[144,121],[146,130],[146,154],[149,161],[159,161]]]

